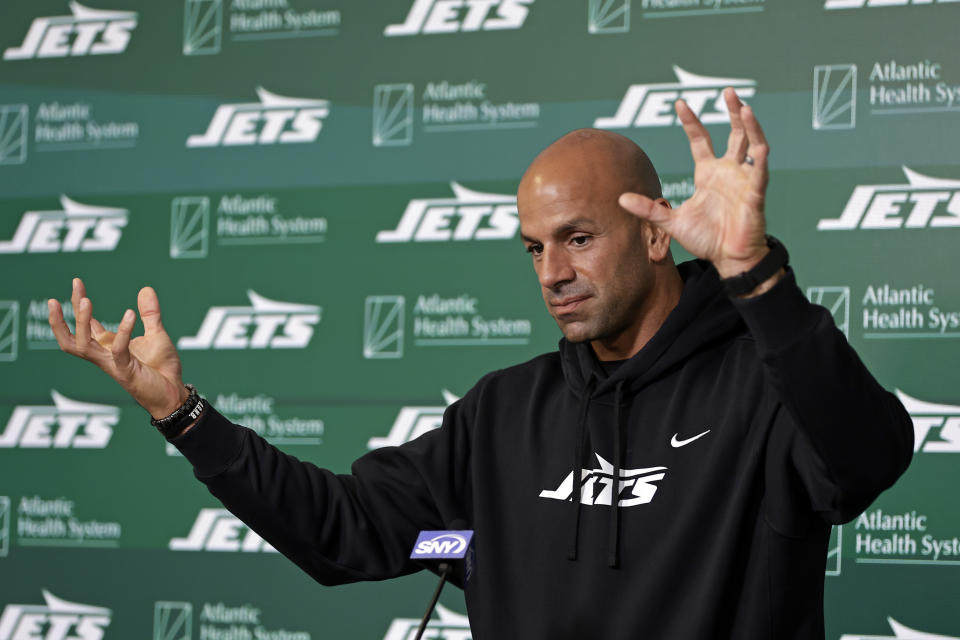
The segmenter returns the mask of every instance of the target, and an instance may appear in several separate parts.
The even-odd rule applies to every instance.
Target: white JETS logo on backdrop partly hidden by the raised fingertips
[[[746,78],[722,78],[698,76],[674,65],[677,82],[660,84],[635,84],[609,118],[597,118],[593,126],[598,129],[625,129],[628,127],[669,127],[679,125],[680,120],[673,110],[673,103],[683,98],[690,109],[704,124],[730,122],[727,104],[723,99],[724,87],[733,87],[741,99],[752,98],[757,83]]]

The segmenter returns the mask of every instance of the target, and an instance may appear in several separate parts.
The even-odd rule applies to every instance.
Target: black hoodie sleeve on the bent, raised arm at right
[[[862,512],[906,470],[913,425],[860,361],[833,317],[791,270],[766,293],[733,301],[767,379],[801,432],[793,462],[828,522]]]

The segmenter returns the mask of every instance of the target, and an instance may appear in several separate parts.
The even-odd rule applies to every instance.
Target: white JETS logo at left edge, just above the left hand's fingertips
[[[60,211],[27,211],[0,254],[113,251],[129,217],[115,207],[80,204],[60,196]]]

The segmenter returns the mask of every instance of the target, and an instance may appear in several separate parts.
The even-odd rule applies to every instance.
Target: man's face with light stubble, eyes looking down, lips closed
[[[571,342],[616,340],[644,311],[653,278],[648,234],[617,204],[619,193],[536,179],[518,193],[521,235],[544,302]]]

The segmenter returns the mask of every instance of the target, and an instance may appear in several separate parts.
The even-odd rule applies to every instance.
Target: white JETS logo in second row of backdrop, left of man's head
[[[315,142],[330,113],[329,100],[288,98],[257,87],[260,102],[222,104],[206,133],[187,147],[231,147]]]

